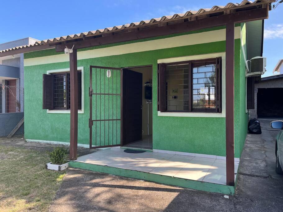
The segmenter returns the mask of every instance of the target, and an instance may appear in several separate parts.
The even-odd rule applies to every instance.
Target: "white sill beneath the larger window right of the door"
[[[158,116],[172,116],[172,117],[212,117],[212,118],[225,118],[225,112],[222,113],[195,113],[195,112],[160,112],[157,111]]]

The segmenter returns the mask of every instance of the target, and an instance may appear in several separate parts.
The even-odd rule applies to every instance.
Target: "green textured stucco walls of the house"
[[[84,67],[84,114],[78,115],[78,142],[89,144],[89,66],[130,67],[152,65],[153,149],[226,156],[225,118],[157,116],[156,110],[158,59],[215,52],[225,52],[225,41],[78,60],[78,67]],[[56,54],[54,49],[46,50],[46,54],[44,51],[38,53],[38,56]],[[32,57],[36,57],[36,52],[25,54],[25,58]],[[36,58],[34,59],[36,60]],[[241,41],[235,39],[235,157],[240,156],[247,125],[247,115],[244,107],[245,81],[243,64]],[[46,110],[42,109],[42,74],[46,74],[48,70],[68,67],[69,62],[25,66],[26,139],[69,142],[70,114],[48,114]],[[102,127],[104,129],[104,126]]]

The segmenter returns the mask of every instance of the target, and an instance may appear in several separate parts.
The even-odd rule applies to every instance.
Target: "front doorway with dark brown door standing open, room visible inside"
[[[122,70],[122,146],[152,149],[152,66]]]

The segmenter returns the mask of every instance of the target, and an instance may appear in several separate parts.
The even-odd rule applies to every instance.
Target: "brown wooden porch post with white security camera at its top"
[[[77,159],[78,148],[78,68],[77,50],[70,53],[70,96],[71,96],[71,127],[70,127],[70,160]]]

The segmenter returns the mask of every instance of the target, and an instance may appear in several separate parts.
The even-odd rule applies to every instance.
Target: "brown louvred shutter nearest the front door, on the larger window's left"
[[[166,64],[159,63],[157,71],[158,91],[157,91],[157,110],[167,111],[167,93],[166,93]]]

